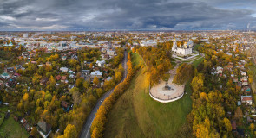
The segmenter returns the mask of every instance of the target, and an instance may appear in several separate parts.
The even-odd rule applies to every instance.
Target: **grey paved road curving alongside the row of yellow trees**
[[[121,82],[124,80],[124,78],[126,78],[127,76],[127,55],[128,53],[125,51],[124,53],[124,59],[122,61],[122,66],[125,70],[125,72],[123,72],[123,78],[121,79]],[[94,121],[95,119],[95,114],[97,112],[97,110],[99,109],[99,107],[102,105],[102,102],[114,91],[114,88],[108,92],[106,92],[102,98],[100,98],[96,105],[95,105],[95,108],[90,112],[89,116],[87,117],[87,120],[85,122],[85,124],[83,125],[83,129],[82,129],[82,132],[81,132],[81,135],[80,135],[80,138],[90,138],[90,127],[92,125],[92,122]]]

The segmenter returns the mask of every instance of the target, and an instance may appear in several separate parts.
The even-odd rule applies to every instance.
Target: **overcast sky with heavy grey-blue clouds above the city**
[[[256,0],[0,0],[0,30],[256,28]]]

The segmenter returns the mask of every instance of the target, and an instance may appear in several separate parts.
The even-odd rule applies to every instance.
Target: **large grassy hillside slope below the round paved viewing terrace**
[[[190,86],[186,85],[187,94],[180,100],[158,103],[149,96],[148,84],[144,67],[109,112],[104,137],[174,137],[192,109]]]

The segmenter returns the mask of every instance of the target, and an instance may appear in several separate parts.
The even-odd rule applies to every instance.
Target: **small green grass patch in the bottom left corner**
[[[6,111],[8,109],[5,107],[0,107],[0,110]],[[8,119],[5,119],[0,126],[0,137],[27,138],[29,136],[29,133],[23,129],[23,127],[18,122],[16,122],[12,116],[10,116]]]

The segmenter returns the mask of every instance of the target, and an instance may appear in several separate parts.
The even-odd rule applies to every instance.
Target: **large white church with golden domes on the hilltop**
[[[176,39],[174,39],[172,51],[174,53],[178,53],[178,54],[186,56],[186,55],[192,54],[193,45],[194,45],[194,42],[189,40],[188,42],[185,42],[183,46],[180,45],[180,47],[178,47],[177,41],[176,41]]]

